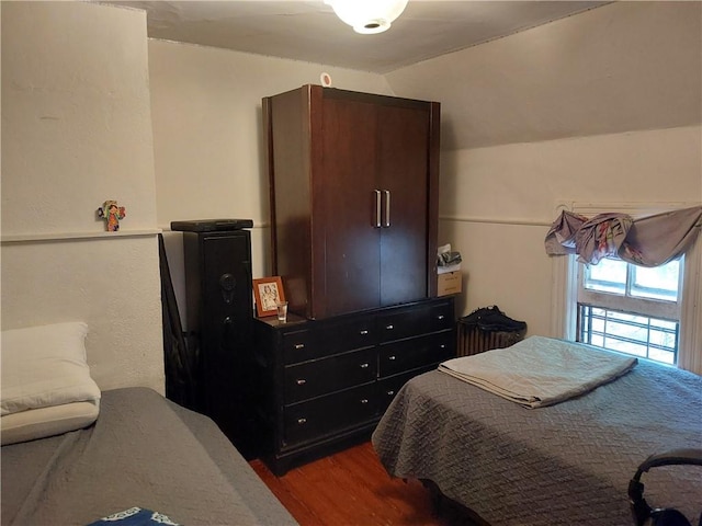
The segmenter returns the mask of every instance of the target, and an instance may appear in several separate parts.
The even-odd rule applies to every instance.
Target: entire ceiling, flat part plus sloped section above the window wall
[[[410,0],[376,35],[322,0],[93,1],[154,38],[383,75],[442,103],[446,149],[702,122],[700,1]]]

